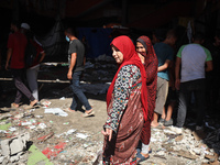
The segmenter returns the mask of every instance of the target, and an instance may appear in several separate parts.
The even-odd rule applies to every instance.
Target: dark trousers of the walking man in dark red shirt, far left
[[[22,94],[25,97],[28,97],[28,99],[31,101],[35,100],[31,91],[28,89],[28,87],[23,82],[24,73],[25,73],[24,69],[12,69],[11,72],[12,72],[14,85],[16,87],[16,96],[15,96],[14,103],[19,103],[21,101]]]

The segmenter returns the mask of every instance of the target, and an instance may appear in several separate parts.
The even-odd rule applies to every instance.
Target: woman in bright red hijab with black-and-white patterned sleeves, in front
[[[146,73],[128,36],[116,37],[111,47],[119,69],[107,94],[103,164],[138,164],[135,148],[147,119]]]

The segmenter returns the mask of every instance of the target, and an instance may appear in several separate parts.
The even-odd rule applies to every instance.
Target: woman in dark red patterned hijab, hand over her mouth
[[[155,109],[157,67],[158,61],[154,52],[151,40],[147,36],[140,36],[136,40],[136,52],[146,70],[146,90],[147,90],[147,120],[144,122],[141,141],[142,150],[138,150],[138,161],[142,162],[148,158],[148,143],[151,139],[151,122]]]

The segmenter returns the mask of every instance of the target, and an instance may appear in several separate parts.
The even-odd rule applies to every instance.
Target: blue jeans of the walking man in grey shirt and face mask
[[[72,89],[74,92],[74,97],[73,97],[73,102],[70,106],[72,110],[76,110],[77,108],[77,100],[79,100],[85,107],[86,110],[90,110],[91,106],[89,105],[88,99],[86,98],[86,96],[84,95],[81,87],[79,86],[79,77],[81,76],[82,72],[76,72],[73,74],[73,79],[72,79]]]

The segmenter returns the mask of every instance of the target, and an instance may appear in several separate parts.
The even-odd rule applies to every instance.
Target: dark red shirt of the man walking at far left
[[[21,32],[15,32],[9,35],[8,48],[12,48],[10,67],[20,69],[24,68],[24,53],[26,47],[26,36]]]

